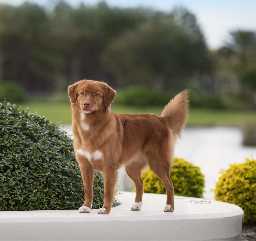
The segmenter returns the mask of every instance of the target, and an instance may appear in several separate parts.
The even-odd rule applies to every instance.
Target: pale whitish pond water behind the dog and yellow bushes
[[[69,134],[71,126],[63,129]],[[182,138],[175,147],[175,156],[199,166],[205,176],[204,198],[213,199],[215,182],[219,170],[229,164],[243,162],[245,157],[256,157],[256,147],[242,146],[242,133],[236,127],[189,127],[185,128]],[[131,191],[132,184],[124,168],[119,170],[118,190]]]

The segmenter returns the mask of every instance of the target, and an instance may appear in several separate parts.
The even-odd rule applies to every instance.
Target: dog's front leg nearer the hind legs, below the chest
[[[115,195],[115,184],[117,179],[117,169],[114,167],[106,167],[103,169],[104,179],[104,204],[98,214],[109,214]]]

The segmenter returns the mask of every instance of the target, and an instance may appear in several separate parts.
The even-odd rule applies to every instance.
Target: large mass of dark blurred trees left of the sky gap
[[[31,92],[63,90],[82,78],[181,88],[211,68],[196,18],[182,7],[168,14],[105,2],[59,1],[52,11],[1,4],[0,26],[0,78]]]

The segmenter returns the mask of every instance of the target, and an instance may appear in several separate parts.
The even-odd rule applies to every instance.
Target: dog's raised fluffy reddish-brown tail
[[[177,94],[165,106],[161,115],[168,120],[167,123],[169,124],[171,130],[178,137],[181,136],[181,131],[186,124],[188,116],[188,96],[188,90],[184,90]]]

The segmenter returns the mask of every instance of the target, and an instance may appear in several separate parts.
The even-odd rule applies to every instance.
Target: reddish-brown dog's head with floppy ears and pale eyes
[[[68,87],[71,103],[76,103],[84,113],[102,111],[115,98],[116,91],[104,82],[81,80]]]

